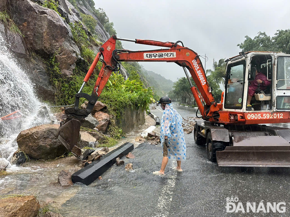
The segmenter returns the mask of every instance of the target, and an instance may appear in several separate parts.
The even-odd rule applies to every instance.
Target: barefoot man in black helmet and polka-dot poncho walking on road
[[[163,159],[159,172],[164,174],[168,159],[177,161],[176,169],[181,172],[181,161],[186,160],[182,117],[173,109],[169,97],[161,97],[158,104],[161,104],[161,108],[164,110],[160,123],[160,142],[163,148]]]

